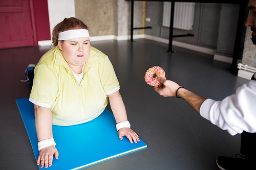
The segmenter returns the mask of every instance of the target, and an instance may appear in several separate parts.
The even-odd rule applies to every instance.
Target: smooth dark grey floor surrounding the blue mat
[[[218,169],[218,156],[240,151],[240,135],[231,136],[197,114],[182,99],[164,98],[144,81],[145,71],[161,66],[174,80],[205,98],[222,100],[248,80],[214,61],[212,55],[139,39],[97,41],[92,46],[109,56],[120,83],[132,129],[147,148],[86,169]],[[31,83],[24,70],[49,49],[23,47],[0,50],[0,169],[38,169],[15,99],[28,97]],[[61,159],[61,156],[59,156]]]

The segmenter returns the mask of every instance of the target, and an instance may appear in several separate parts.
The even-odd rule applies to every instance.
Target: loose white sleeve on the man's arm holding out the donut
[[[256,81],[239,87],[236,94],[223,101],[207,99],[200,107],[200,114],[231,135],[256,132]]]

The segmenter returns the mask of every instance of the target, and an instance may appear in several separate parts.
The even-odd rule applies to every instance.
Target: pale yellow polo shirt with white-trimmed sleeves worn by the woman
[[[108,104],[106,93],[117,88],[119,82],[108,56],[91,46],[78,83],[56,46],[36,65],[29,100],[51,109],[53,125],[70,126],[99,116]]]

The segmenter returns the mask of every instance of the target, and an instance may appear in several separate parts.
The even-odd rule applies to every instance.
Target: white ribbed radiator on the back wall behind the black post
[[[193,30],[196,3],[176,2],[174,8],[174,28]],[[170,27],[171,2],[163,3],[163,27]]]

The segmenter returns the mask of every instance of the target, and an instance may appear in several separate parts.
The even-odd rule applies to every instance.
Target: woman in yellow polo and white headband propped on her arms
[[[130,129],[113,66],[108,56],[91,46],[89,37],[81,20],[65,18],[54,27],[55,47],[35,67],[29,100],[35,108],[40,167],[51,166],[53,155],[58,158],[52,125],[88,122],[103,112],[108,99],[120,140],[126,136],[131,143],[139,141]]]

